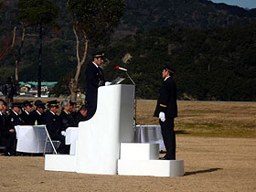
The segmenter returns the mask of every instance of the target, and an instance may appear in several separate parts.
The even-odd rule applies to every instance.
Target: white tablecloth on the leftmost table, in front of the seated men
[[[16,151],[25,153],[44,153],[47,133],[45,125],[17,125]]]

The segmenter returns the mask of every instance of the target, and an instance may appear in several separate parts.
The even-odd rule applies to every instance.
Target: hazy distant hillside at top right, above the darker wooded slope
[[[121,35],[153,27],[214,28],[246,25],[255,21],[255,9],[214,4],[208,0],[126,0],[119,27]]]

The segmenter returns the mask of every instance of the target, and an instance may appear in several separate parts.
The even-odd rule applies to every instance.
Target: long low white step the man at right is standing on
[[[118,160],[121,176],[184,176],[183,160]]]

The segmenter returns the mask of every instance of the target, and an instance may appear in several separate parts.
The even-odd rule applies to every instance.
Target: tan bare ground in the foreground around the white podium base
[[[251,138],[176,135],[185,176],[101,176],[44,171],[43,156],[0,155],[0,191],[256,191]]]

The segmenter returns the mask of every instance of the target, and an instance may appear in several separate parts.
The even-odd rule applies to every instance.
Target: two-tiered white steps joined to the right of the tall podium
[[[159,144],[121,143],[118,175],[184,176],[183,160],[159,160]]]

